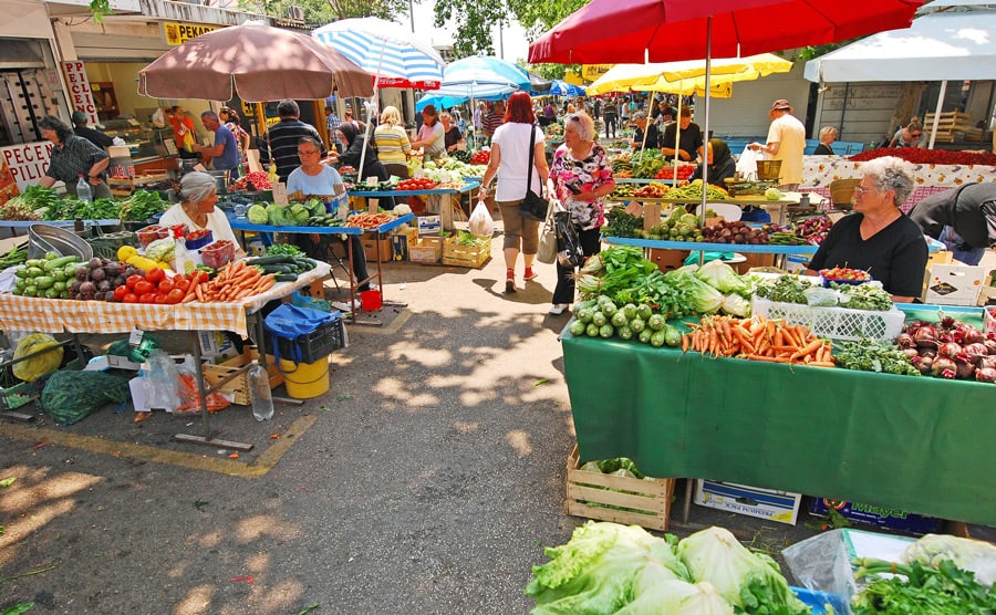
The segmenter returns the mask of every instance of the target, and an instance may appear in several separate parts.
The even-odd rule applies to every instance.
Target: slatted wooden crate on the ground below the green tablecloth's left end
[[[579,457],[578,446],[574,445],[567,462],[564,503],[568,514],[626,525],[635,524],[647,530],[667,530],[675,479],[641,480],[589,472],[580,469]],[[592,504],[609,504],[631,510]]]

